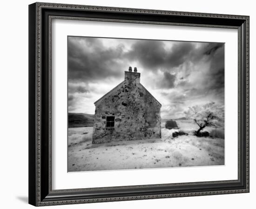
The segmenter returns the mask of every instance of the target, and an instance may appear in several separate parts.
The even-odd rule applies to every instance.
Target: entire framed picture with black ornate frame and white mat
[[[29,203],[249,192],[249,16],[29,5]]]

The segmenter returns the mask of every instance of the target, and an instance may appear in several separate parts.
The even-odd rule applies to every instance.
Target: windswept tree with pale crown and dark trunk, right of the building
[[[224,120],[224,107],[216,105],[214,102],[189,107],[189,110],[184,113],[186,118],[193,119],[199,126],[196,135],[205,127],[220,127],[220,122]]]

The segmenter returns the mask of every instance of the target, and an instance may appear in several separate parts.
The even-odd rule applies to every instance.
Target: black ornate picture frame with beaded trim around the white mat
[[[238,31],[238,178],[81,189],[52,189],[52,20],[89,20]],[[95,7],[29,5],[29,203],[34,206],[249,192],[249,16]]]

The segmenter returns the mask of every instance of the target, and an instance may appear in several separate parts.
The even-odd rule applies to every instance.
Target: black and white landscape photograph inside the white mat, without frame
[[[224,165],[224,43],[67,37],[67,171]]]

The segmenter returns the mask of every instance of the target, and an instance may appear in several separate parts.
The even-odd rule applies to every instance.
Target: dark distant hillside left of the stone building
[[[68,113],[68,128],[92,126],[94,126],[94,115],[86,113]]]

